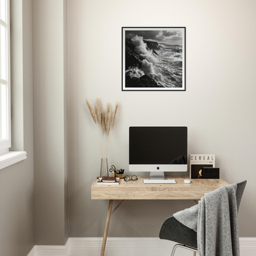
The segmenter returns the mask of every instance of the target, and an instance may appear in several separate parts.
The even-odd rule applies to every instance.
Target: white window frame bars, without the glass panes
[[[3,0],[1,0],[3,1]],[[5,0],[6,2],[6,22],[0,17],[0,25],[6,28],[6,80],[0,78],[0,84],[4,84],[7,86],[7,121],[6,121],[6,130],[7,137],[0,140],[0,154],[6,153],[9,151],[11,146],[11,124],[10,124],[10,0]],[[1,44],[0,44],[1,46]],[[2,122],[2,121],[1,121]]]

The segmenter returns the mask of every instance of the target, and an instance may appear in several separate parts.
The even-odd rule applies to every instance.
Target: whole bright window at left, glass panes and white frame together
[[[0,0],[0,153],[10,148],[9,0]]]

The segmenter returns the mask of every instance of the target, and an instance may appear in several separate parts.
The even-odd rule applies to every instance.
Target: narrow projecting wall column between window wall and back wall
[[[66,0],[33,1],[34,237],[68,239]]]

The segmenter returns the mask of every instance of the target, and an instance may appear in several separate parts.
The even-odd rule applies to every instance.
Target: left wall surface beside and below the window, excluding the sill
[[[11,0],[12,148],[27,159],[0,170],[0,254],[28,255],[33,238],[32,1]]]

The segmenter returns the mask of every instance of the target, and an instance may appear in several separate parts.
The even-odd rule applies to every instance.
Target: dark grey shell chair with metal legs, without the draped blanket
[[[242,199],[242,194],[244,193],[244,188],[246,187],[246,182],[247,181],[244,180],[243,182],[237,184],[236,204],[238,209]],[[179,243],[174,246],[174,249],[172,249],[171,256],[175,254],[177,247],[183,247],[185,249],[192,250],[194,252],[194,256],[198,251],[197,233],[182,223],[178,222],[178,220],[176,220],[173,216],[167,218],[164,223],[162,223],[159,232],[159,238]]]

